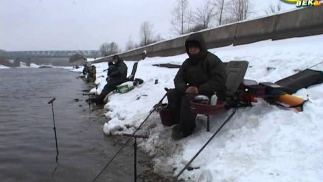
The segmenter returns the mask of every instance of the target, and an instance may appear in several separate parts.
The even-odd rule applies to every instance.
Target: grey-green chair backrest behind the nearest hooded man
[[[230,61],[227,65],[227,96],[233,96],[241,82],[243,81],[244,75],[248,69],[248,61]]]

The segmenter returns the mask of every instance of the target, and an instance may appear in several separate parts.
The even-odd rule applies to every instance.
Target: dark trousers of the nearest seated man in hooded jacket
[[[180,130],[190,133],[195,128],[196,114],[190,110],[190,101],[196,94],[182,94],[176,89],[170,89],[167,93],[168,107],[175,123],[179,123]]]

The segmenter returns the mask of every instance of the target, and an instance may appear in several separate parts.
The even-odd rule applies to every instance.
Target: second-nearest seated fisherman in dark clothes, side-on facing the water
[[[107,79],[101,94],[95,99],[96,104],[102,104],[105,96],[117,89],[117,85],[123,83],[127,78],[128,67],[124,61],[117,55],[113,57],[113,61],[115,65],[108,72],[110,74],[109,79]]]

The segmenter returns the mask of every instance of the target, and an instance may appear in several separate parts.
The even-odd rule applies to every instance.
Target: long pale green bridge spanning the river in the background
[[[37,58],[71,58],[73,55],[81,55],[84,58],[100,57],[100,51],[80,50],[80,51],[0,51],[0,58],[13,59],[14,66],[20,66],[20,62],[25,62],[30,66],[33,59]]]

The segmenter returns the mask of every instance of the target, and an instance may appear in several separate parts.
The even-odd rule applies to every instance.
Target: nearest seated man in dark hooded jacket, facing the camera
[[[190,101],[196,95],[210,97],[217,93],[218,100],[225,100],[227,71],[222,61],[207,51],[201,33],[191,34],[185,41],[189,56],[178,70],[175,89],[169,90],[169,109],[175,123],[173,139],[181,139],[192,134],[196,114],[190,110]]]

